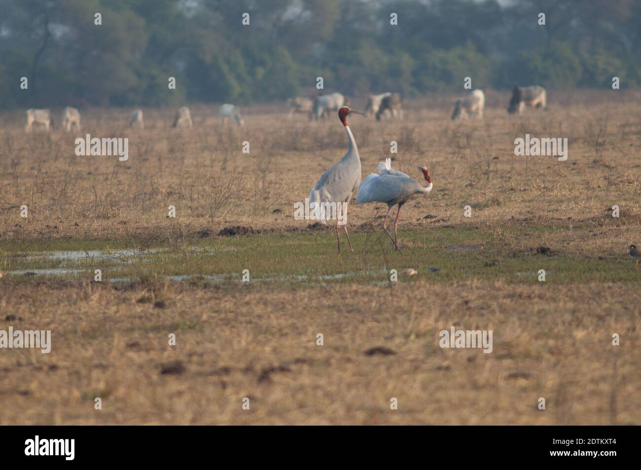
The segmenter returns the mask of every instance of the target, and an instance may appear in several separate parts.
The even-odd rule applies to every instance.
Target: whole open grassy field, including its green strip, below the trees
[[[222,127],[192,106],[176,130],[145,109],[131,130],[90,109],[76,135],[2,113],[0,330],[52,346],[0,349],[0,424],[641,424],[638,92],[551,92],[516,117],[508,99],[488,92],[483,120],[451,121],[451,96],[351,116],[363,178],[391,156],[434,189],[403,207],[402,253],[387,206],[351,204],[340,256],[332,226],[294,219],[347,149],[335,115],[260,105]],[[76,156],[86,133],[128,137],[129,159]],[[567,137],[567,161],[515,156],[526,133]],[[492,352],[440,348],[452,326],[492,330]]]

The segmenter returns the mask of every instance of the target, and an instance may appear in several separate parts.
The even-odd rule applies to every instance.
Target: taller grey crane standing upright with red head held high
[[[347,205],[352,198],[352,193],[354,190],[358,190],[360,185],[361,169],[356,140],[354,140],[354,135],[352,131],[349,130],[349,126],[347,126],[347,116],[352,113],[365,115],[365,113],[353,110],[349,108],[349,106],[342,106],[342,108],[338,110],[338,117],[340,118],[340,122],[343,123],[343,126],[345,126],[345,132],[347,132],[347,138],[349,139],[349,149],[347,149],[347,153],[345,153],[345,156],[340,162],[326,171],[325,174],[320,177],[319,182],[312,188],[312,192],[310,192],[310,212],[312,212],[312,203],[315,203],[315,210],[313,211],[315,219],[326,224],[326,221],[329,220],[331,215],[327,210],[328,205],[336,205],[338,211],[344,204],[345,210],[343,211],[343,217],[345,223],[343,224],[343,228],[345,235],[347,235],[349,249],[354,251],[352,242],[349,240],[349,233],[347,233]],[[338,206],[340,206],[340,208]],[[338,212],[336,212],[336,214],[338,214]],[[338,254],[340,255],[339,221],[340,219],[337,217],[336,238],[338,241]]]

